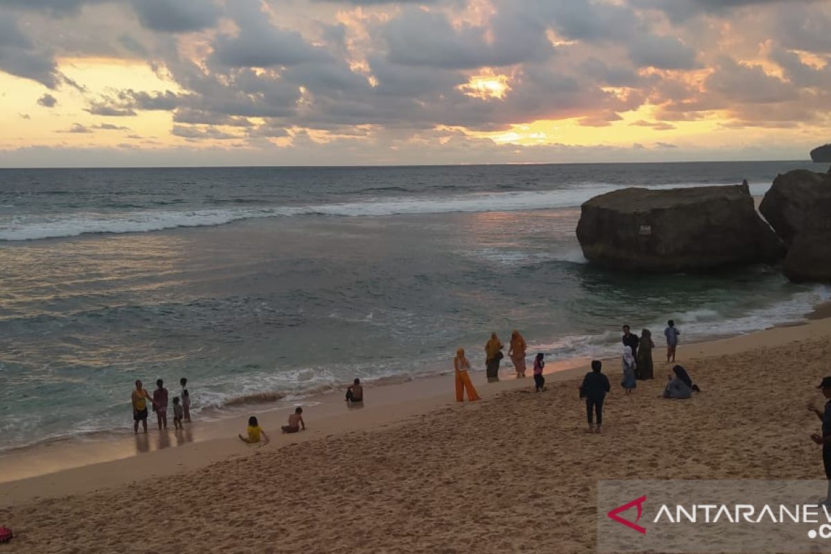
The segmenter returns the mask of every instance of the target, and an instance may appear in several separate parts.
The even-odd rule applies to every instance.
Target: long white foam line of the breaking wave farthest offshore
[[[651,187],[672,189],[696,186],[672,184]],[[188,211],[77,212],[0,216],[0,240],[25,241],[74,237],[86,233],[145,233],[179,227],[208,227],[242,219],[324,215],[340,217],[416,215],[428,213],[515,212],[536,209],[577,208],[586,200],[621,187],[593,184],[578,189],[510,193],[456,194],[430,199],[390,197],[349,203],[300,206],[255,206]],[[763,194],[766,185],[752,185]],[[573,261],[578,262],[578,259]]]

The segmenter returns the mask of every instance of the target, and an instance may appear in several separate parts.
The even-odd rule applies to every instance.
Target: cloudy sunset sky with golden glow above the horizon
[[[0,167],[808,159],[831,2],[0,0]]]

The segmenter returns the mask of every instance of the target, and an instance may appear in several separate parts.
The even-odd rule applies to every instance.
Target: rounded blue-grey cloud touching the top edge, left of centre
[[[130,5],[144,27],[159,32],[214,27],[220,14],[214,0],[130,0]]]

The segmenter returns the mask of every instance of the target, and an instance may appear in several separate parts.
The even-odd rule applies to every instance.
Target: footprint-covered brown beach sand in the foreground
[[[449,391],[266,447],[217,439],[3,483],[0,525],[9,552],[593,552],[598,479],[823,478],[806,404],[822,405],[829,355],[829,319],[681,345],[703,392],[663,400],[659,346],[656,380],[631,396],[607,363],[603,434],[584,432],[585,368],[540,394],[479,383],[473,404]],[[182,462],[188,446],[226,458]]]

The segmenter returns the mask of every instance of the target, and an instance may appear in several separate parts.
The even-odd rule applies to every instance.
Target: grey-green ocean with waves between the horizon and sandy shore
[[[831,289],[776,269],[645,276],[586,263],[585,200],[626,186],[764,194],[807,162],[0,170],[0,452],[131,432],[130,390],[194,412],[355,377],[484,369],[491,331],[548,360],[800,321]],[[150,422],[153,424],[153,421]]]

